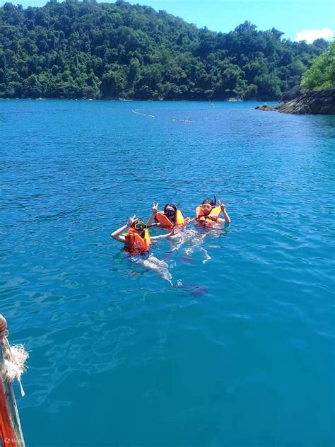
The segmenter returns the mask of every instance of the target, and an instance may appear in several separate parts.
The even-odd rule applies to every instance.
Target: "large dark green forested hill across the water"
[[[196,28],[124,1],[0,8],[0,97],[276,99],[327,42],[283,40],[245,22]]]

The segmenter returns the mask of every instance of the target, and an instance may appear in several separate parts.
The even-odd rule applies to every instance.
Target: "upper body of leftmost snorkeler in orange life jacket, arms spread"
[[[128,233],[122,234],[123,231],[127,229]],[[129,252],[144,252],[151,248],[152,243],[156,240],[162,238],[169,238],[172,236],[174,231],[161,236],[150,236],[148,231],[148,226],[141,219],[136,218],[136,216],[129,217],[126,225],[120,227],[110,236],[119,242],[124,243],[125,250]]]

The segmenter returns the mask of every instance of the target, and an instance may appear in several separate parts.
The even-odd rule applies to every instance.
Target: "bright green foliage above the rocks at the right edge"
[[[335,88],[335,42],[329,46],[329,52],[312,61],[312,66],[302,77],[301,85],[309,91]]]

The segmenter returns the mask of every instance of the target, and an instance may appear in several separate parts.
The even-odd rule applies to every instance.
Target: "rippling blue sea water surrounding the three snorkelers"
[[[255,105],[0,102],[28,446],[334,446],[335,117]],[[153,248],[172,286],[110,239],[153,200],[193,216],[213,192],[232,224],[211,260]]]

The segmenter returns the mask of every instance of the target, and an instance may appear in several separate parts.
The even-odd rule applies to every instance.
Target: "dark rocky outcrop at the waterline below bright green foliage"
[[[335,115],[335,88],[307,92],[300,86],[293,87],[282,96],[278,111],[306,115]]]

